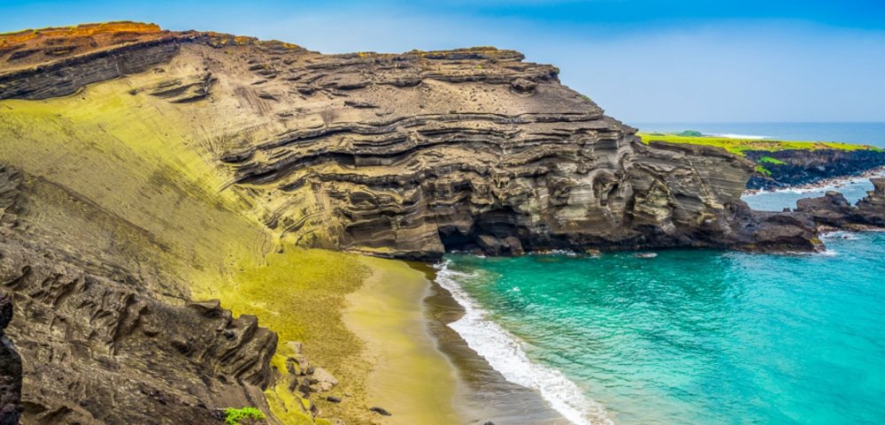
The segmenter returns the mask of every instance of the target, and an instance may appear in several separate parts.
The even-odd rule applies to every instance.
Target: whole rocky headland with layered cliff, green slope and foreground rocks
[[[523,59],[324,55],[127,22],[0,34],[0,285],[23,421],[212,423],[230,406],[373,421],[312,397],[338,380],[296,343],[357,374],[335,309],[369,273],[301,247],[813,251],[824,225],[882,225],[881,181],[857,207],[753,211],[756,163],[643,143]]]

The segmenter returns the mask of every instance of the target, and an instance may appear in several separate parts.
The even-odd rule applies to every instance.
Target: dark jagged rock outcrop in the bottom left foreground
[[[22,391],[22,421],[213,423],[211,407],[266,410],[275,333],[254,316],[234,319],[218,301],[160,299],[138,277],[150,270],[105,276],[59,251],[51,235],[25,233],[12,213],[27,190],[19,173],[0,167],[0,288],[17,310],[0,344],[0,392]],[[4,412],[14,410],[11,393],[0,394],[12,406]]]

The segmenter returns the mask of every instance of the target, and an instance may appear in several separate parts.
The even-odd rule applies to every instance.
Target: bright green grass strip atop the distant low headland
[[[779,150],[817,150],[817,149],[839,149],[839,150],[875,150],[882,151],[881,148],[874,148],[869,145],[856,145],[853,143],[843,143],[835,141],[781,141],[781,140],[758,140],[758,139],[732,139],[727,137],[704,136],[700,132],[693,130],[682,133],[637,133],[642,138],[643,143],[649,143],[652,140],[666,141],[669,143],[682,143],[689,145],[704,145],[717,148],[724,148],[728,152],[743,156],[743,152],[747,150],[764,150],[776,152]],[[774,159],[774,158],[772,158]],[[775,161],[777,161],[775,159]]]

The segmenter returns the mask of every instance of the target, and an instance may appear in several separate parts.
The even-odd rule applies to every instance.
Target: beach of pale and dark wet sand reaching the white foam
[[[447,324],[463,309],[426,264],[363,259],[373,276],[347,296],[344,323],[365,342],[366,403],[377,424],[568,425],[537,391],[509,383]],[[369,406],[366,406],[368,408]]]

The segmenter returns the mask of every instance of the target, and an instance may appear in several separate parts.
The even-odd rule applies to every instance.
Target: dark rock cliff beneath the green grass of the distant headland
[[[754,162],[766,156],[783,162],[762,163],[771,171],[771,176],[754,174],[747,182],[749,189],[807,185],[827,178],[855,176],[885,166],[885,152],[872,149],[748,150],[744,154]]]

